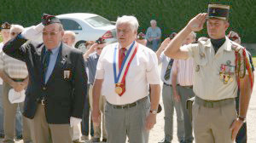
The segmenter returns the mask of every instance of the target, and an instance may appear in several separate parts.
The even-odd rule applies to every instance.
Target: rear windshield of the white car
[[[111,22],[107,19],[102,18],[101,16],[90,17],[85,19],[91,26],[101,27],[101,26],[111,26]]]

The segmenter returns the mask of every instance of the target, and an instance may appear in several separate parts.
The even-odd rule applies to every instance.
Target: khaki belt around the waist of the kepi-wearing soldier
[[[214,107],[225,106],[230,103],[235,103],[235,99],[229,98],[224,100],[202,100],[198,96],[195,96],[195,103],[197,103],[200,106],[205,106],[207,108],[214,108]]]

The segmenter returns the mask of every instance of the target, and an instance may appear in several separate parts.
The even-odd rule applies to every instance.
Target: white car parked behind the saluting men
[[[99,37],[107,43],[114,43],[116,30],[113,22],[97,14],[73,13],[56,16],[61,20],[65,31],[76,33],[75,47],[84,51],[86,41],[96,41]]]

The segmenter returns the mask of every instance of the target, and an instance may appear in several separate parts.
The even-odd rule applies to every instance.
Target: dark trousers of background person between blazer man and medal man
[[[88,87],[90,87],[90,84],[88,84]],[[83,110],[83,118],[82,118],[82,134],[88,136],[89,130],[90,130],[90,136],[94,136],[94,130],[93,130],[93,123],[90,119],[90,105],[89,105],[89,88],[87,88],[87,95],[86,95],[86,101],[84,102],[84,110]],[[90,119],[90,126],[89,126],[89,119]]]

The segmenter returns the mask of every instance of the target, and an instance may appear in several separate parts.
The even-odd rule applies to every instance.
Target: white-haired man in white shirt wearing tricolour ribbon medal
[[[135,42],[138,22],[134,16],[116,22],[119,43],[102,50],[93,86],[94,123],[100,123],[99,97],[106,96],[105,119],[108,142],[148,142],[156,123],[160,100],[158,60],[151,49]],[[151,103],[148,89],[151,88]]]

